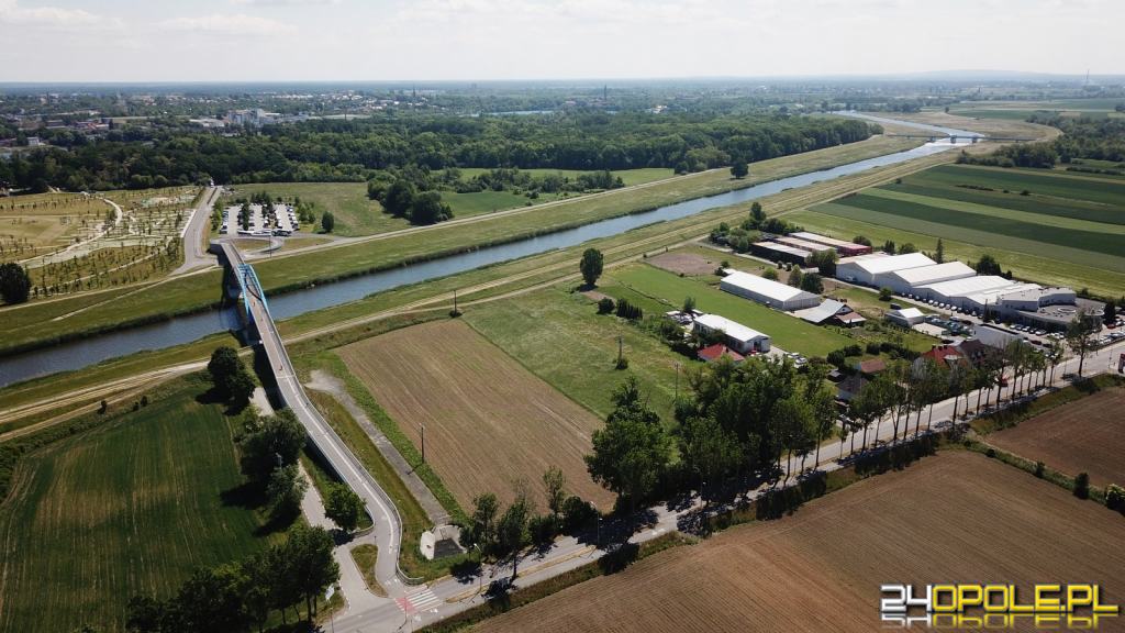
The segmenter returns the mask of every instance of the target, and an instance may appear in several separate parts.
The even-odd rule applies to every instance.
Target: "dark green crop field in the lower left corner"
[[[269,542],[224,493],[242,475],[222,409],[180,381],[137,412],[26,456],[0,506],[0,630],[124,630],[138,592]]]

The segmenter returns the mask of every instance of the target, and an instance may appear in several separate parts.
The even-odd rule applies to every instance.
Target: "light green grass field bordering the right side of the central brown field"
[[[627,373],[637,376],[649,405],[673,419],[676,364],[694,364],[664,342],[613,315],[596,314],[594,302],[559,288],[466,310],[465,321],[570,399],[600,418],[611,410],[610,394]],[[628,372],[614,368],[618,337]],[[681,376],[681,390],[686,382]]]

